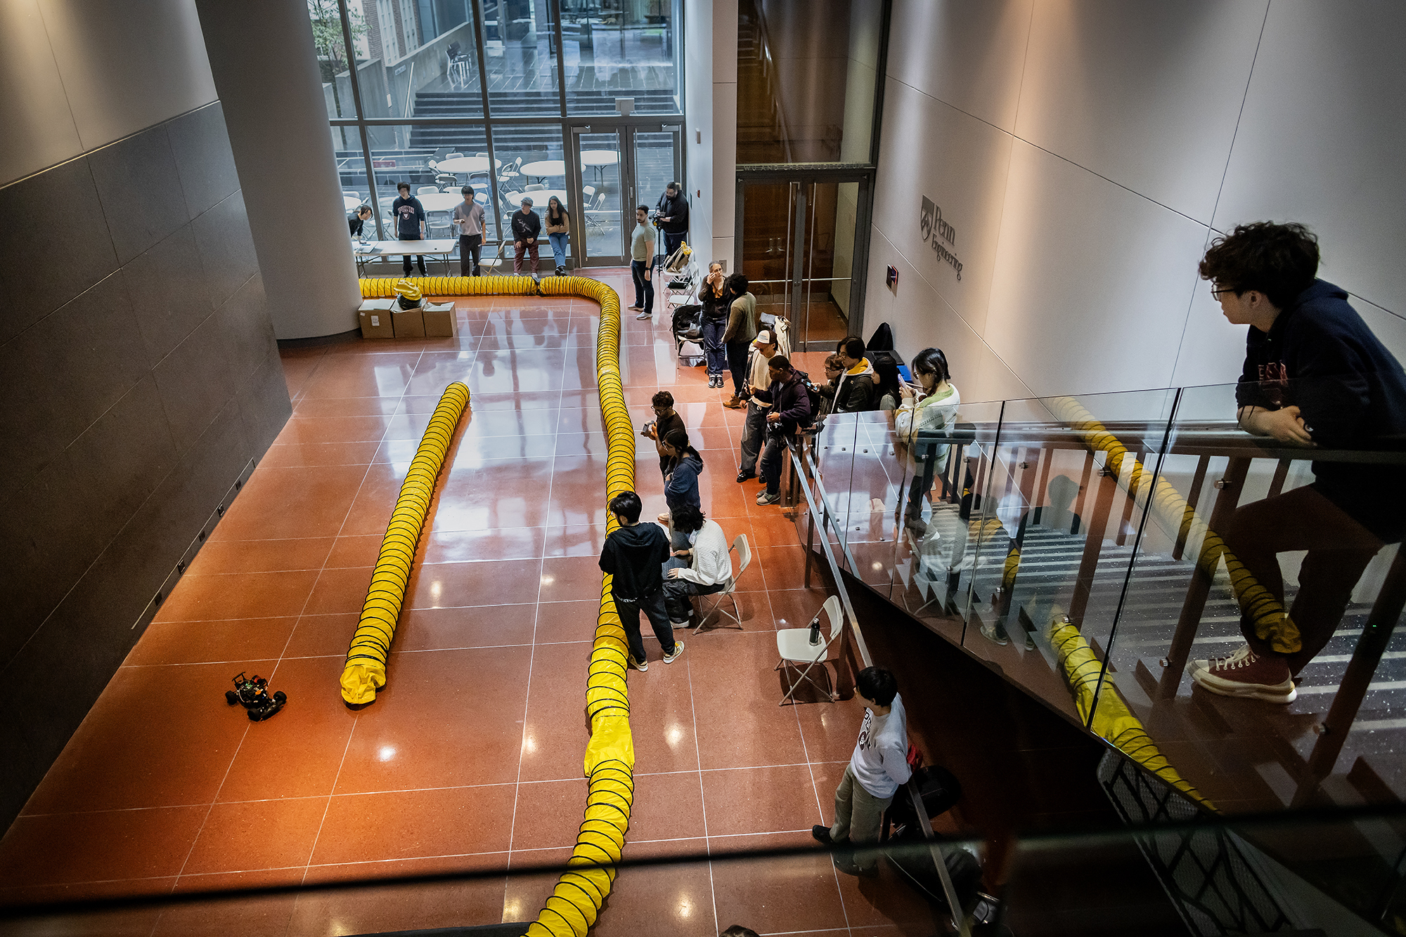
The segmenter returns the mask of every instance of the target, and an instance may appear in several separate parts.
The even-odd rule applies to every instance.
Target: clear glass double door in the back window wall
[[[652,208],[664,188],[682,176],[679,126],[592,124],[572,131],[572,201],[581,207],[572,243],[578,250],[585,246],[576,263],[628,266],[636,207]]]

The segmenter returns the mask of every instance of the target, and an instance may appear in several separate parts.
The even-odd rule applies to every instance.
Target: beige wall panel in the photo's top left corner
[[[37,0],[0,3],[0,185],[83,150]]]

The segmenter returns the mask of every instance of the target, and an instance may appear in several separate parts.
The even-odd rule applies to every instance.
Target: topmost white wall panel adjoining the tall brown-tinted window
[[[1011,132],[1031,7],[1032,0],[894,0],[889,74]]]

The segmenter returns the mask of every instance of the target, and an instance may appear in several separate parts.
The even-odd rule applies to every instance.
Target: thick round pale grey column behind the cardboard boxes
[[[280,339],[357,327],[356,261],[308,8],[195,0]]]

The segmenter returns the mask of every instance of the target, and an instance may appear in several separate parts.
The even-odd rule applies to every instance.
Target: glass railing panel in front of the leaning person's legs
[[[1406,454],[1371,426],[1306,431],[1312,451],[1241,430],[1233,385],[1182,391],[1143,535],[1166,572],[1135,576],[1111,650],[1119,695],[1226,811],[1406,797]]]

